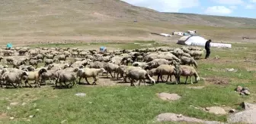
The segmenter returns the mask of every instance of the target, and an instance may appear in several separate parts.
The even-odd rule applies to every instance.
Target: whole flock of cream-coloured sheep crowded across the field
[[[92,78],[96,85],[98,76],[123,79],[124,82],[130,80],[134,82],[144,82],[149,80],[155,85],[153,76],[157,76],[157,81],[171,80],[175,77],[175,82],[180,82],[180,77],[195,77],[196,82],[200,80],[197,74],[197,62],[203,55],[203,50],[197,47],[181,48],[142,48],[134,50],[111,51],[101,53],[97,50],[85,50],[78,48],[11,48],[0,49],[5,60],[5,65],[0,65],[0,85],[14,88],[30,86],[40,87],[50,81],[56,86],[72,88],[81,84],[81,79],[85,79],[88,85],[88,78]],[[38,64],[43,63],[43,67]],[[12,66],[11,66],[12,65]],[[163,76],[167,76],[164,80]]]

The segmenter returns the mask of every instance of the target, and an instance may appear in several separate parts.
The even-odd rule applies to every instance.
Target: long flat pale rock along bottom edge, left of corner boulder
[[[222,122],[215,121],[205,121],[203,119],[197,119],[188,116],[181,116],[175,113],[161,113],[156,116],[156,120],[158,122],[198,122],[198,123],[206,123],[206,124],[222,124]]]

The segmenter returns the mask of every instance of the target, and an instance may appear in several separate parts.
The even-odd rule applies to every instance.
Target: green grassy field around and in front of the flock
[[[136,42],[154,44],[155,42]],[[112,48],[143,48],[132,43],[97,44]],[[37,47],[34,45],[31,47]],[[162,46],[162,44],[158,44]],[[168,44],[165,46],[177,46]],[[86,44],[40,45],[40,47],[78,47],[91,48]],[[78,88],[53,89],[50,85],[42,88],[0,89],[0,123],[155,123],[160,113],[181,113],[199,119],[225,122],[226,116],[216,116],[197,110],[194,107],[226,106],[242,110],[243,101],[256,100],[256,54],[254,44],[232,44],[232,48],[212,48],[210,60],[198,60],[197,69],[201,80],[194,85],[167,85],[130,87],[128,85],[78,85]],[[218,55],[219,60],[213,59]],[[247,61],[245,61],[245,58]],[[226,72],[226,68],[238,70]],[[102,79],[107,82],[109,79]],[[184,78],[181,80],[184,81]],[[226,82],[218,84],[219,82]],[[203,89],[191,89],[189,86],[203,85]],[[240,96],[234,91],[237,85],[251,89],[250,96]],[[86,93],[86,97],[77,97],[75,93]],[[178,101],[162,101],[155,95],[170,92],[181,95]],[[10,105],[18,102],[18,105]],[[29,116],[34,115],[33,118]],[[9,117],[14,116],[13,120]],[[27,121],[30,119],[30,121]],[[166,122],[173,123],[173,122]]]

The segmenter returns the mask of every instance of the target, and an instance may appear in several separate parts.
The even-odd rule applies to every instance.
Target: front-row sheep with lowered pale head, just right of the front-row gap
[[[142,69],[130,70],[128,73],[126,73],[126,76],[130,78],[131,86],[135,86],[133,83],[135,80],[139,80],[139,85],[141,80],[143,80],[144,84],[146,85],[145,79],[150,79],[155,85],[155,79],[152,79],[152,77],[149,76],[149,73],[147,73],[146,70],[142,70]]]

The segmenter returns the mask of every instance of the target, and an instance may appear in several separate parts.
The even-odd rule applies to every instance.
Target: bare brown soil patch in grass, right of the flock
[[[205,81],[214,85],[229,85],[229,82],[231,82],[230,79],[221,76],[206,77]]]

